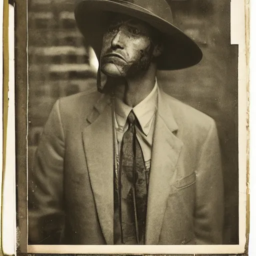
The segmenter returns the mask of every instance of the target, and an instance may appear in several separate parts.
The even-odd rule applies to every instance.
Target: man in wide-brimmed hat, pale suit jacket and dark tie
[[[155,78],[199,62],[199,47],[165,0],[83,0],[75,18],[99,60],[101,93],[52,108],[29,173],[29,242],[220,244],[215,123]]]

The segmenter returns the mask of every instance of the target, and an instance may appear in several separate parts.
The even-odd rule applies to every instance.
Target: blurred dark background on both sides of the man
[[[28,172],[55,100],[95,86],[93,54],[75,25],[76,1],[29,0],[27,3]],[[237,46],[230,45],[230,0],[168,2],[175,24],[198,43],[203,59],[187,69],[160,71],[157,77],[167,93],[205,112],[217,123],[225,188],[224,243],[236,244]]]

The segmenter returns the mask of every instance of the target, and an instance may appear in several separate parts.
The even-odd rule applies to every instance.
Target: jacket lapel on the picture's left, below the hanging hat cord
[[[107,244],[113,244],[113,131],[109,99],[100,98],[87,118],[83,146],[99,223]]]

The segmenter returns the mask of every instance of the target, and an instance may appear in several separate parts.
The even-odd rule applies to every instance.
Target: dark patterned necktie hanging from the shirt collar
[[[123,135],[120,154],[121,197],[126,200],[120,205],[122,239],[127,244],[144,244],[147,180],[142,150],[136,137],[135,124],[139,124],[133,111],[127,122],[129,126]]]

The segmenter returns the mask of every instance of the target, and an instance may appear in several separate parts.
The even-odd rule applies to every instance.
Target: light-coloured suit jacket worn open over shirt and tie
[[[146,244],[220,244],[223,185],[212,118],[158,93]],[[113,131],[109,96],[57,100],[29,170],[30,243],[113,244]]]

